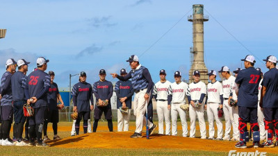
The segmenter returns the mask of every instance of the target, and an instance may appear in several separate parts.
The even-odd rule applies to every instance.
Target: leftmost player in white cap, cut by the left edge
[[[9,141],[10,128],[13,123],[13,93],[11,86],[11,79],[13,73],[17,67],[17,62],[10,58],[6,62],[6,72],[3,73],[1,78],[0,86],[0,99],[1,99],[1,118],[3,123],[1,124],[2,131],[1,145],[2,146],[13,146],[14,144]],[[1,137],[0,135],[0,137]]]

